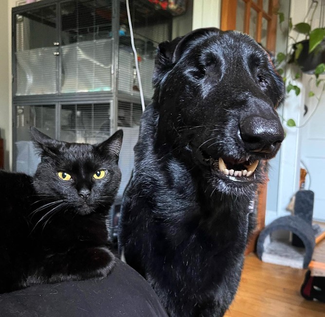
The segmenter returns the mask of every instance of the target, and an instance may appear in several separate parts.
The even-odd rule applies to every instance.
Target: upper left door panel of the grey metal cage
[[[55,5],[16,15],[17,96],[57,93],[55,41]]]

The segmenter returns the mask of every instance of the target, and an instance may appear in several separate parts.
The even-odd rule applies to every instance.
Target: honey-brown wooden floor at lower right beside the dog
[[[325,317],[325,303],[300,295],[306,270],[245,260],[235,300],[226,317]]]

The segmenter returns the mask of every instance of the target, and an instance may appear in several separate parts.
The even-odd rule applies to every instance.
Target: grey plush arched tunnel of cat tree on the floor
[[[292,246],[290,241],[272,238],[275,231],[292,232],[303,243],[305,249]],[[297,215],[275,219],[265,227],[257,240],[257,256],[263,262],[307,268],[315,247],[315,232],[310,223]]]

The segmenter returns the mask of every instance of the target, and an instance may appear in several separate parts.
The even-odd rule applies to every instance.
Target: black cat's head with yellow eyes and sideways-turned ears
[[[108,211],[121,181],[122,130],[95,145],[53,140],[34,127],[31,135],[41,156],[33,181],[40,198],[78,214]]]

